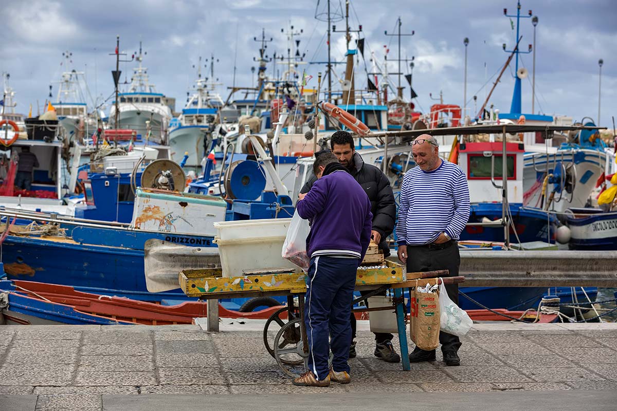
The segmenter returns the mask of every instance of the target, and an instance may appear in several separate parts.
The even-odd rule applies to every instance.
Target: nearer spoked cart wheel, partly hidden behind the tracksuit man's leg
[[[274,358],[284,373],[296,378],[309,367],[309,352],[304,352],[304,335],[302,335],[302,319],[288,322],[281,327],[274,340]],[[290,341],[290,337],[292,340]],[[297,338],[297,341],[294,343]],[[328,366],[332,365],[332,353],[328,358]]]

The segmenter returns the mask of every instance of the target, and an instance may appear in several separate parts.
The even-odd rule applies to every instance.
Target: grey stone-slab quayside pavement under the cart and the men
[[[263,346],[263,322],[246,323],[223,324],[220,333],[199,325],[0,325],[0,410],[107,410],[118,395],[145,404],[148,394],[617,393],[615,323],[475,324],[462,338],[460,367],[445,367],[438,353],[437,362],[404,372],[373,356],[360,321],[353,381],[328,388],[292,386]]]

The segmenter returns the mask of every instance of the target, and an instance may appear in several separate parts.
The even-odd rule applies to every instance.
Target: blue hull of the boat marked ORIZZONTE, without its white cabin
[[[66,227],[70,238],[8,235],[2,244],[10,280],[70,285],[75,290],[141,301],[189,298],[180,288],[150,293],[144,277],[144,243],[152,238],[213,246],[213,237],[120,228]],[[191,298],[190,300],[194,300]]]

